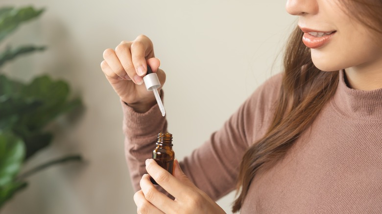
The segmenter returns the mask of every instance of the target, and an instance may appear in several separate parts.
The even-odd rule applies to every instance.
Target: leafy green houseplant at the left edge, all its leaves
[[[19,25],[39,17],[44,9],[31,6],[0,8],[0,43]],[[30,83],[7,77],[3,65],[25,54],[44,51],[45,46],[6,46],[0,51],[0,209],[15,193],[27,185],[26,178],[49,166],[81,160],[67,155],[50,160],[20,173],[23,165],[53,139],[47,126],[58,116],[82,106],[79,98],[71,99],[70,87],[48,75],[35,77]]]

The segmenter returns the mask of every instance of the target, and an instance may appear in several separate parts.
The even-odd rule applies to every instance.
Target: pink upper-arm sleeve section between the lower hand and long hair
[[[212,199],[236,189],[242,156],[263,137],[273,119],[281,75],[260,86],[200,148],[180,166],[192,182]]]

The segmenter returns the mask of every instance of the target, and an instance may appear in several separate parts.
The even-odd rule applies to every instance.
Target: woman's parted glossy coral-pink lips
[[[309,28],[302,28],[304,32],[303,43],[309,48],[320,48],[329,43],[336,31],[319,31]]]

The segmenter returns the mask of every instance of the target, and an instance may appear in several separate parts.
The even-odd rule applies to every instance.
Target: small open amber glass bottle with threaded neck
[[[159,132],[157,147],[152,151],[152,158],[161,166],[172,174],[174,166],[175,152],[172,150],[172,134],[168,132]],[[151,178],[153,184],[157,184]]]

